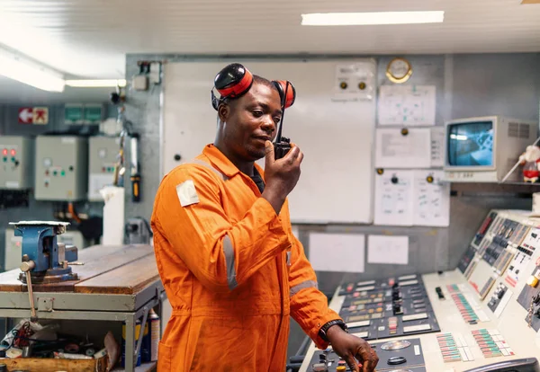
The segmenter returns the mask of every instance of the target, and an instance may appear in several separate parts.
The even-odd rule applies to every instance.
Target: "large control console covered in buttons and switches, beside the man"
[[[336,289],[329,306],[374,347],[378,371],[495,371],[504,362],[540,372],[540,217],[491,210],[481,222],[455,270],[358,277]],[[423,323],[404,332],[409,322]],[[382,332],[390,323],[398,331]],[[331,345],[311,342],[299,372],[340,370],[349,369]]]

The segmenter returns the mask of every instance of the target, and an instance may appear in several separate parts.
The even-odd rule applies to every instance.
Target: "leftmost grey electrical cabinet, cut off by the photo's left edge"
[[[32,145],[29,137],[0,137],[0,190],[31,189]]]

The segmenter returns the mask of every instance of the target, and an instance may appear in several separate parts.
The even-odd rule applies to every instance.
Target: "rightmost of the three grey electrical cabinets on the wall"
[[[120,151],[119,137],[91,137],[88,161],[88,200],[102,201],[99,193],[114,182],[114,166]]]

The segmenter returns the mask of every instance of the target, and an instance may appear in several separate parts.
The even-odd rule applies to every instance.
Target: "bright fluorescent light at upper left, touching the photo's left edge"
[[[43,91],[64,91],[64,78],[58,72],[3,48],[0,48],[0,75]]]

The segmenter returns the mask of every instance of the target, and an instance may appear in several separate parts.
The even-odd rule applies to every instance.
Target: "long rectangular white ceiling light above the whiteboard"
[[[444,20],[444,11],[302,14],[302,26],[437,23]]]

